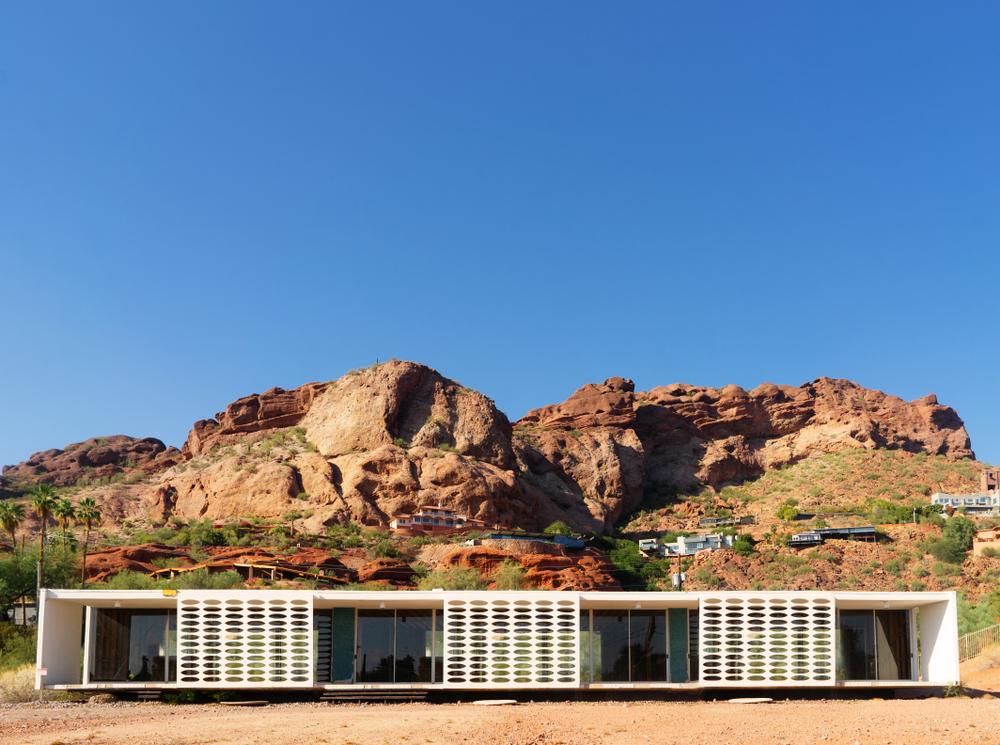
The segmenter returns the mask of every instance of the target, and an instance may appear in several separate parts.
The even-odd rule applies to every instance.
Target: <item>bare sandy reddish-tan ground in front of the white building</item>
[[[0,743],[28,745],[958,745],[1000,742],[1000,701],[20,706]]]

